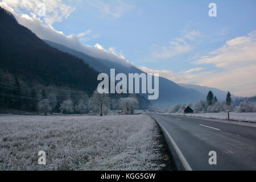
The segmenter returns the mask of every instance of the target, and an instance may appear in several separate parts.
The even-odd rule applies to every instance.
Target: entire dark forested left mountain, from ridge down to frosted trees
[[[48,98],[56,107],[53,111],[59,112],[61,102],[70,99],[76,105],[80,99],[86,100],[87,94],[92,95],[100,82],[97,80],[100,72],[93,67],[106,70],[104,64],[92,57],[82,55],[80,59],[49,46],[2,7],[0,32],[0,107],[35,111],[38,102]],[[128,96],[110,95],[115,102]],[[143,96],[135,97],[139,109],[151,105]]]

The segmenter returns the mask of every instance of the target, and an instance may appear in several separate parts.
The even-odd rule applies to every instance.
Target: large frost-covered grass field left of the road
[[[1,115],[0,170],[158,170],[159,136],[144,114]]]

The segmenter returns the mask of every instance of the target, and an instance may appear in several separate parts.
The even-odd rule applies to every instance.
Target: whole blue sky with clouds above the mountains
[[[210,3],[217,16],[209,16]],[[0,6],[39,38],[176,83],[256,95],[255,0],[1,0]]]

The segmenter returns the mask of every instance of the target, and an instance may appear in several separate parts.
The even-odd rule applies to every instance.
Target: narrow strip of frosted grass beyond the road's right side
[[[183,115],[183,113],[175,113],[174,115]],[[195,114],[185,114],[192,117],[202,117],[202,118],[214,118],[214,119],[228,119],[228,113],[195,113]],[[234,121],[247,121],[256,122],[256,113],[229,113],[229,117]]]

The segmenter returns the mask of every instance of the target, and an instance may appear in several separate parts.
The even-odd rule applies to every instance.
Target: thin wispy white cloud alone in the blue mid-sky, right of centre
[[[181,38],[174,38],[167,46],[153,45],[151,47],[151,56],[155,59],[168,59],[182,53],[191,51],[192,47],[188,42],[193,42],[200,36],[200,32],[188,32]]]

